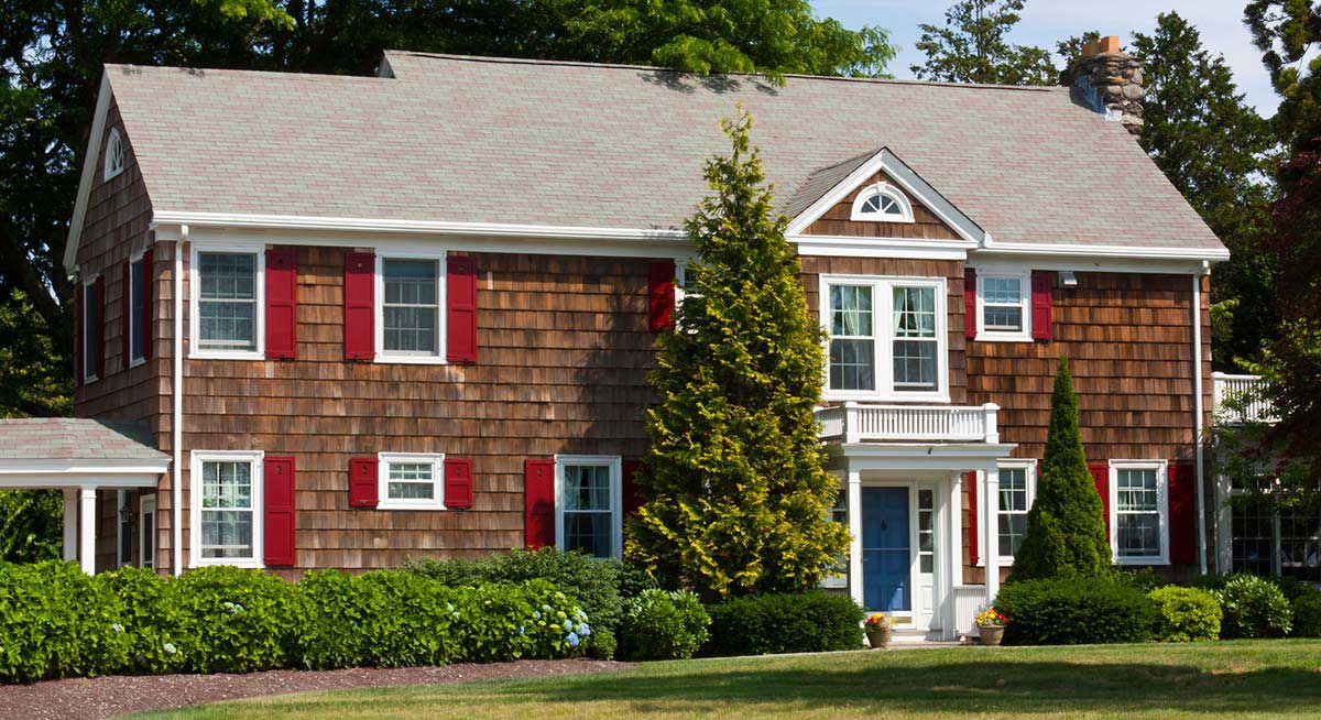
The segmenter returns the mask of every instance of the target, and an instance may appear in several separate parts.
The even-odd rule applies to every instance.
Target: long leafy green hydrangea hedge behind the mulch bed
[[[0,565],[0,682],[108,672],[399,667],[579,654],[588,614],[551,583],[199,568],[172,580]]]

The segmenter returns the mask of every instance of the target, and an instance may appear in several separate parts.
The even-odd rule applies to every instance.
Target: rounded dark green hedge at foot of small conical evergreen
[[[1127,583],[1050,579],[1009,583],[995,609],[1009,618],[1007,645],[1083,645],[1152,639],[1157,609]]]

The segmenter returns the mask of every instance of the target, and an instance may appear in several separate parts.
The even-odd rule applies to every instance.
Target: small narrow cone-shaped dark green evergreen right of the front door
[[[1028,511],[1028,531],[1015,554],[1009,580],[1108,575],[1111,552],[1102,513],[1082,449],[1069,361],[1059,358],[1037,499]]]

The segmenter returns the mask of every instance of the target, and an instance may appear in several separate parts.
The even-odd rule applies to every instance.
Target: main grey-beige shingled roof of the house
[[[886,147],[996,242],[1223,252],[1133,137],[1067,89],[775,87],[403,52],[384,66],[394,77],[106,71],[156,211],[676,229],[742,104],[786,210]]]

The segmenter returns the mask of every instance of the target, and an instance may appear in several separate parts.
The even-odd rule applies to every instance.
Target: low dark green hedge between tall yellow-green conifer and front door
[[[863,647],[863,609],[820,591],[756,594],[711,605],[704,655],[769,655]]]

